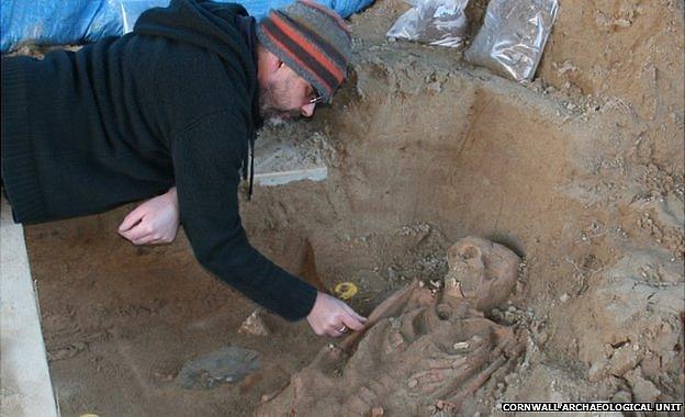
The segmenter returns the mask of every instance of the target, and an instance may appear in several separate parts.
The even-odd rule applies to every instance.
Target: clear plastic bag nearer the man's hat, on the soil
[[[412,3],[414,7],[397,19],[386,36],[430,45],[463,46],[469,32],[464,14],[469,0],[415,0]]]

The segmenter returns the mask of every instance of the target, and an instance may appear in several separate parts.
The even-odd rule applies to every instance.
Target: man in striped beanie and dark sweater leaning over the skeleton
[[[361,329],[345,303],[249,245],[237,200],[262,119],[311,116],[349,55],[344,21],[310,0],[259,25],[238,4],[172,0],[125,36],[3,58],[2,180],[14,219],[99,213],[170,190],[195,257],[221,280],[289,320],[306,317],[317,335]]]

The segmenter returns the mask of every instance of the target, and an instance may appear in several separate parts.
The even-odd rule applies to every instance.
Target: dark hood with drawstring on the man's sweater
[[[250,176],[254,174],[251,168],[256,131],[263,123],[259,114],[255,19],[237,3],[171,0],[167,8],[154,8],[141,14],[133,32],[209,49],[222,58],[232,74],[243,78],[240,81],[246,86],[251,102],[251,120],[248,121],[251,134],[247,138],[246,147],[249,155],[243,156],[243,178],[247,178],[248,171]],[[251,180],[250,178],[250,194]]]

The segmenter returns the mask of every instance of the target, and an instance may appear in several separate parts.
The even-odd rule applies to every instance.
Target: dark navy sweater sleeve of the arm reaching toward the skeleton
[[[172,138],[183,228],[200,263],[288,320],[308,315],[316,289],[251,247],[238,212],[239,148],[247,128],[231,111],[213,113]]]

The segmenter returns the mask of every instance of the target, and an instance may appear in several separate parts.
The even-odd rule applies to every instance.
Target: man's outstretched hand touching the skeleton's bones
[[[347,329],[355,331],[363,329],[367,319],[340,300],[319,291],[307,322],[318,336],[339,337],[347,333]]]

